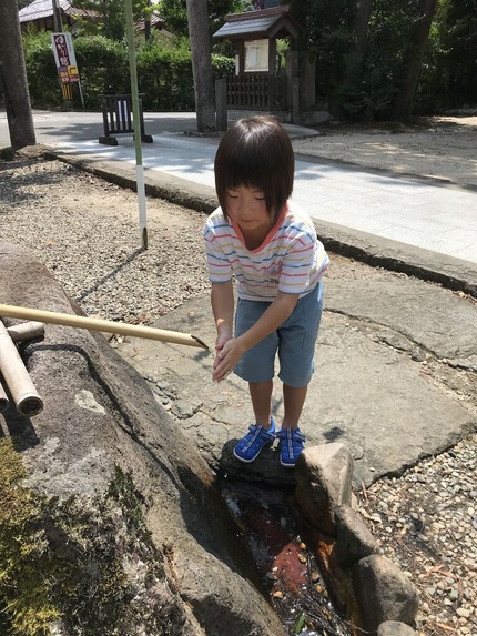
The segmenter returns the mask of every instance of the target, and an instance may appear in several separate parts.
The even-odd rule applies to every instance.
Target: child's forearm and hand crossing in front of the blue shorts
[[[231,337],[219,350],[214,362],[213,380],[221,382],[234,369],[242,355],[261,340],[273,333],[292,314],[298,302],[297,294],[278,292],[260,320],[238,337]]]

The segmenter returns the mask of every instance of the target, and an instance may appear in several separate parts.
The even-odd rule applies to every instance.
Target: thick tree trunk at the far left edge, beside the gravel
[[[0,2],[0,61],[10,143],[14,149],[34,145],[37,140],[17,0]]]

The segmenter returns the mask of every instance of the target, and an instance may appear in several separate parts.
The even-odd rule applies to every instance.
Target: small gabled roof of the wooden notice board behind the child
[[[213,37],[227,40],[251,40],[276,38],[283,34],[296,38],[300,30],[298,23],[290,13],[290,7],[281,6],[246,13],[231,13],[225,17],[225,24],[215,31]]]

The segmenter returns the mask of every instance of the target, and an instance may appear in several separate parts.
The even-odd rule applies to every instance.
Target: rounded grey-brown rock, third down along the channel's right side
[[[418,607],[417,590],[385,556],[366,556],[355,564],[353,586],[364,629],[376,632],[386,620],[414,624]]]

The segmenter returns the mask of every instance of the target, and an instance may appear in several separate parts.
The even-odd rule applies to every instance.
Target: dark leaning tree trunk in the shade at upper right
[[[394,117],[398,120],[407,119],[410,115],[436,4],[437,0],[419,0],[418,18],[410,37],[407,64],[394,104]]]

